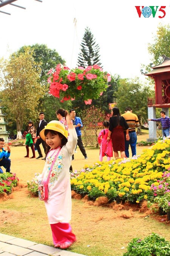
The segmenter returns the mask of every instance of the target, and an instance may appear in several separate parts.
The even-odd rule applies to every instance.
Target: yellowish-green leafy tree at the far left
[[[16,122],[17,131],[23,123],[36,117],[39,98],[44,94],[40,85],[40,66],[34,61],[32,52],[13,53],[9,60],[0,60],[0,84],[2,105],[8,116]]]

